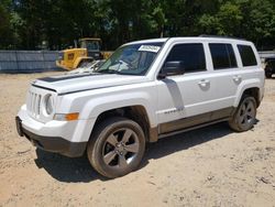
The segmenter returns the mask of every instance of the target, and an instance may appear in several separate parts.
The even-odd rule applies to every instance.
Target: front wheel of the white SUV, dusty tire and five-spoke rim
[[[145,151],[145,137],[134,121],[114,117],[98,124],[87,146],[91,166],[114,178],[136,170]]]

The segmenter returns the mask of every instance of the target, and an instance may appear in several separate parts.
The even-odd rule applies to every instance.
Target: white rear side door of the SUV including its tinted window
[[[232,109],[238,87],[243,78],[235,56],[237,46],[231,43],[210,42],[208,43],[208,50],[212,64],[211,83],[215,88],[212,106],[217,116],[223,117],[226,115],[222,112]]]

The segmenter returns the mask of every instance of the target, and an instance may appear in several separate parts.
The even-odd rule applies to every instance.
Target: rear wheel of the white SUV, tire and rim
[[[256,100],[251,96],[243,96],[234,115],[229,120],[232,130],[242,132],[253,128],[256,120]]]

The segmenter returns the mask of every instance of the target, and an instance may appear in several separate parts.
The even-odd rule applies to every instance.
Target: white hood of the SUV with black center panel
[[[84,90],[144,83],[148,79],[145,76],[89,73],[44,77],[34,80],[32,85],[54,90],[58,95],[64,95]]]

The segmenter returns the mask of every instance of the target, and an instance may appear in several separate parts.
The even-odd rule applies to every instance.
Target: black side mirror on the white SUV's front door
[[[166,76],[183,75],[185,73],[184,62],[173,61],[166,62],[164,67],[158,74],[160,79],[164,79]]]

